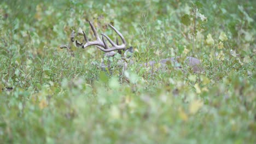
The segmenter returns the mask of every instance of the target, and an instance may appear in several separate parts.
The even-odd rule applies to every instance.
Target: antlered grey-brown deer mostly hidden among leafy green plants
[[[91,26],[92,32],[94,33],[94,36],[96,38],[95,41],[89,41],[88,38],[86,37],[85,32],[83,31],[83,36],[84,36],[84,40],[85,40],[85,44],[83,43],[79,43],[77,40],[74,40],[74,36],[75,36],[75,32],[72,31],[71,34],[71,41],[74,42],[76,46],[82,47],[83,49],[85,49],[88,46],[92,46],[95,45],[96,47],[98,47],[98,49],[102,50],[103,52],[106,52],[104,54],[104,56],[106,57],[113,57],[115,56],[117,53],[120,53],[122,56],[121,60],[118,61],[118,64],[123,66],[124,69],[126,69],[128,67],[129,64],[133,64],[134,62],[130,59],[130,55],[126,55],[127,52],[131,52],[132,53],[132,47],[127,47],[126,46],[126,40],[124,38],[124,36],[112,25],[109,24],[109,26],[114,29],[114,31],[119,35],[119,37],[121,38],[123,44],[118,44],[118,39],[117,39],[117,43],[115,44],[114,41],[112,41],[107,35],[105,34],[101,34],[102,35],[102,39],[100,39],[100,37],[97,34],[97,31],[94,27],[94,25],[92,25],[92,23],[89,21],[89,24]],[[106,39],[109,41],[109,43],[112,45],[111,47],[109,47],[106,43]],[[62,45],[60,46],[61,49],[63,48],[68,48],[67,45]],[[115,52],[117,51],[117,52]],[[166,58],[166,59],[161,59],[161,61],[159,61],[159,63],[161,64],[161,68],[166,68],[167,63],[177,63],[178,59],[180,57],[171,57],[171,58]],[[187,65],[189,65],[194,73],[200,73],[202,71],[202,67],[201,67],[201,62],[199,59],[194,58],[194,57],[187,57],[185,58],[185,63],[187,63]],[[144,63],[144,64],[140,64],[141,66],[150,66],[153,67],[156,64],[155,61],[149,61],[148,64]],[[104,62],[101,63],[101,68],[102,69],[106,69],[109,68],[109,65],[105,65]]]

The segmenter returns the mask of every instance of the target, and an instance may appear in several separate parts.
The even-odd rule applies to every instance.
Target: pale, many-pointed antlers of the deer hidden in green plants
[[[114,29],[114,31],[119,35],[119,37],[123,41],[123,44],[121,44],[121,45],[118,45],[118,41],[117,41],[117,44],[115,44],[114,41],[112,41],[105,34],[101,34],[102,35],[102,40],[101,40],[100,37],[98,37],[97,31],[96,31],[94,25],[92,25],[92,23],[90,21],[89,21],[89,24],[91,26],[92,32],[94,32],[94,36],[95,36],[96,40],[95,41],[89,41],[88,38],[86,37],[85,32],[83,31],[84,40],[86,41],[86,43],[83,45],[83,43],[79,43],[77,40],[75,40],[75,44],[77,46],[82,46],[82,48],[84,49],[85,47],[95,45],[100,50],[102,50],[104,52],[110,52],[110,51],[115,51],[115,50],[125,50],[126,49],[126,40],[125,40],[124,36],[115,27],[113,27],[112,25],[109,24],[109,26],[112,29]],[[112,47],[109,47],[107,45],[105,38],[109,41],[109,43],[112,45]]]

